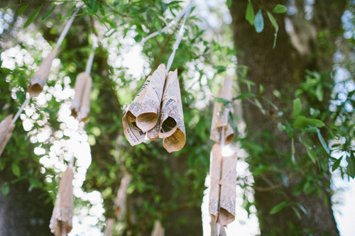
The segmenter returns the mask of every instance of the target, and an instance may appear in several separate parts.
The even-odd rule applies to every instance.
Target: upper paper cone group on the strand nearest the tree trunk
[[[222,99],[232,100],[232,82],[233,77],[226,77],[224,79],[224,84],[218,91],[217,97]],[[225,106],[223,103],[217,101],[214,102],[213,117],[212,117],[212,128],[210,139],[214,142],[221,142],[221,137],[224,137],[224,145],[228,145],[234,140],[234,130],[231,128],[229,123],[229,111],[231,111],[231,104]],[[222,135],[222,127],[224,126],[224,134]]]

